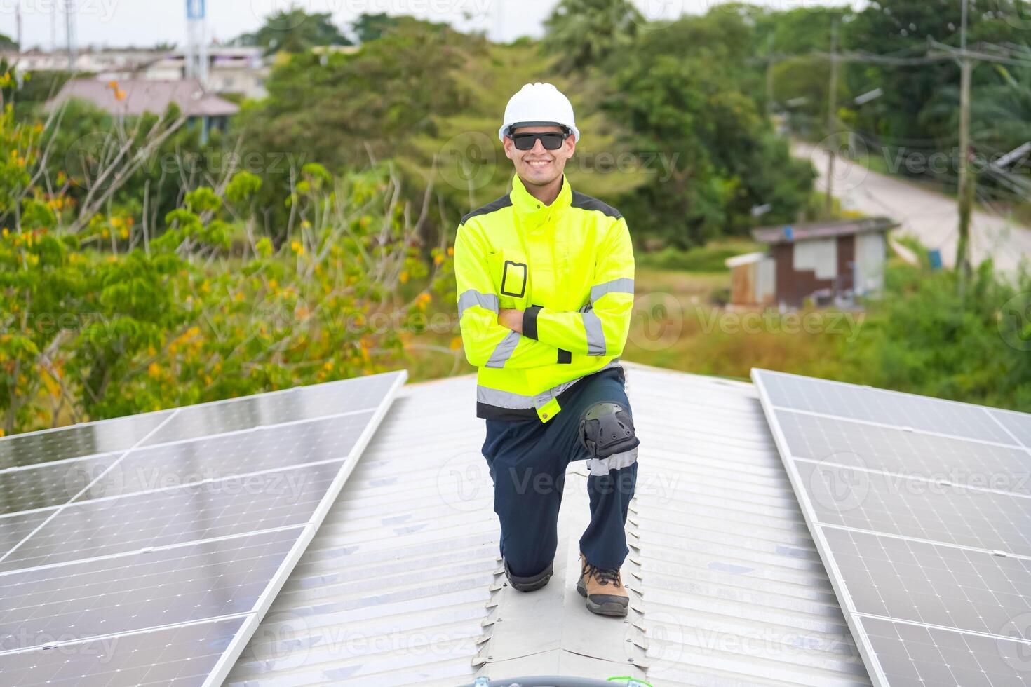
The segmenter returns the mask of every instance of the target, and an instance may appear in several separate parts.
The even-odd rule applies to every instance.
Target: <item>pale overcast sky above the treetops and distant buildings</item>
[[[64,2],[78,6],[78,44],[144,46],[186,43],[187,0],[0,0],[0,33],[16,33],[16,8],[22,8],[25,46],[49,49],[52,36],[65,41]],[[701,13],[720,0],[634,0],[646,19],[672,19]],[[827,0],[753,0],[779,9],[829,4]],[[481,30],[498,40],[539,36],[541,22],[557,0],[206,0],[208,35],[225,41],[254,31],[263,18],[295,4],[308,12],[330,12],[345,27],[363,12],[412,14],[448,22],[462,30]],[[837,3],[840,4],[840,3]],[[57,21],[55,21],[55,19]]]

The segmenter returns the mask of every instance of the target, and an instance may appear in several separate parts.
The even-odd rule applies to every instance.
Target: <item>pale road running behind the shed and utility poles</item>
[[[800,142],[793,145],[793,151],[799,158],[812,160],[820,171],[818,187],[826,191],[827,156]],[[929,248],[939,248],[945,265],[955,264],[959,212],[954,199],[840,158],[835,162],[834,195],[845,209],[894,217],[901,224],[897,232],[916,236]],[[1031,229],[975,210],[970,248],[974,264],[991,255],[998,269],[1013,271],[1022,259],[1031,265]]]

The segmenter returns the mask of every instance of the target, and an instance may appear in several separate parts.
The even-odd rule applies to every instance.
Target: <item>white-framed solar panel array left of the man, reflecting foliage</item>
[[[0,439],[0,684],[219,684],[406,376]]]

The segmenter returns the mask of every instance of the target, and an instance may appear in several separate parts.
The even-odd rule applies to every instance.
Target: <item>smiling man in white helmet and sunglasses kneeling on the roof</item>
[[[587,460],[591,524],[576,588],[592,612],[625,616],[620,566],[639,444],[619,360],[634,298],[630,233],[614,208],[569,187],[563,170],[579,131],[554,85],[524,85],[498,136],[512,190],[462,218],[455,276],[505,575],[521,591],[547,584],[566,467]]]

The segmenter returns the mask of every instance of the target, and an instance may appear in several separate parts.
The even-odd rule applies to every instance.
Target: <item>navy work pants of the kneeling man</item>
[[[483,453],[494,482],[494,512],[501,521],[501,555],[512,575],[537,575],[554,561],[566,467],[593,457],[580,442],[580,416],[599,402],[619,403],[630,412],[624,382],[623,368],[584,377],[570,387],[562,410],[548,422],[486,420]],[[602,569],[623,564],[629,553],[624,526],[636,482],[636,460],[607,475],[588,477],[591,524],[579,540],[588,562]]]

